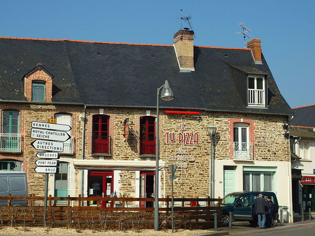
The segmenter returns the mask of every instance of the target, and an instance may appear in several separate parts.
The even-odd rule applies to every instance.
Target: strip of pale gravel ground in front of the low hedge
[[[172,230],[167,231],[154,231],[153,229],[143,229],[140,233],[134,230],[123,231],[112,231],[112,230],[89,230],[89,229],[67,229],[67,228],[42,228],[42,227],[2,227],[0,228],[0,235],[12,234],[12,235],[23,235],[23,234],[53,234],[53,235],[175,235],[175,236],[185,236],[197,233],[208,233],[211,230],[183,230],[179,229],[177,232],[172,233]]]

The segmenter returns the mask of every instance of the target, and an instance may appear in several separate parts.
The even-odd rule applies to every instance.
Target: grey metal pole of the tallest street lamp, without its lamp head
[[[159,93],[161,88],[163,88],[164,85],[159,87],[157,89],[157,121],[156,121],[156,143],[155,143],[155,199],[154,199],[154,230],[159,230],[159,211],[158,211],[158,159],[159,159]]]

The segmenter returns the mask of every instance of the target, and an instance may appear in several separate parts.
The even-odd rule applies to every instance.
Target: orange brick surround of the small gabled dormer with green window
[[[32,100],[32,82],[42,81],[45,82],[45,102],[51,102],[53,77],[41,63],[38,63],[33,70],[29,71],[24,76],[24,95],[27,101]]]

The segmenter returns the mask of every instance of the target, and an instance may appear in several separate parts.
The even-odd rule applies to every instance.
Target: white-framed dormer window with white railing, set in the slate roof
[[[265,106],[265,78],[248,77],[248,105]]]

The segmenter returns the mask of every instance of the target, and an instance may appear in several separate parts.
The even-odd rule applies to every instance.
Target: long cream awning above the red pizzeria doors
[[[155,171],[155,161],[137,160],[75,160],[75,169],[89,170],[133,170],[133,171]],[[163,171],[165,162],[159,161],[159,170]]]

